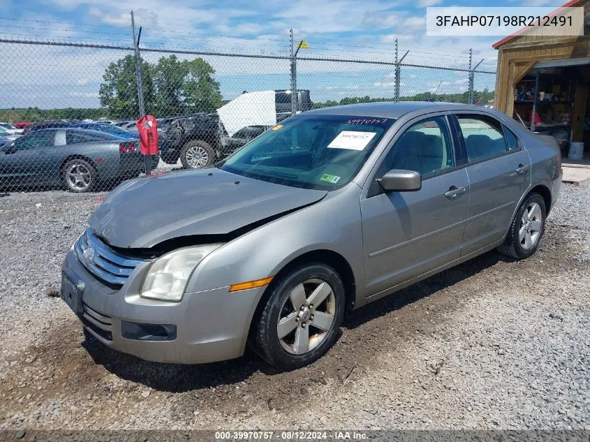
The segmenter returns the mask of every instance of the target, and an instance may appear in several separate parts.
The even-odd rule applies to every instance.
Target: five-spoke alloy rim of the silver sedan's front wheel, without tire
[[[307,353],[320,345],[334,323],[336,297],[322,279],[307,279],[291,290],[281,307],[276,332],[285,351]]]

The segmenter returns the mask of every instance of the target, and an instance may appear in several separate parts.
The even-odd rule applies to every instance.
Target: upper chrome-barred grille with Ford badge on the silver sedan
[[[91,249],[87,256],[84,251]],[[86,231],[74,244],[74,251],[80,263],[98,279],[109,283],[114,288],[121,288],[131,272],[141,260],[124,256],[114,251],[100,238],[94,235],[91,228]]]

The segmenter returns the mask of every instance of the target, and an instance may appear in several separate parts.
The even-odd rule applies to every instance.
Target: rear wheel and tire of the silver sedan
[[[539,246],[545,232],[545,200],[538,193],[531,193],[518,207],[510,224],[506,240],[498,250],[510,258],[529,258]]]

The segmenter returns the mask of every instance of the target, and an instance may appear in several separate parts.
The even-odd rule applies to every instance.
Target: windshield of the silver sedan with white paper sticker
[[[355,177],[391,118],[298,115],[230,156],[222,170],[306,189],[338,189]]]

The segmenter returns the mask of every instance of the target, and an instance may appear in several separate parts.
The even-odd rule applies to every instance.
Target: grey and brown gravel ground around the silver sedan
[[[54,295],[102,198],[0,197],[0,429],[590,430],[588,187],[563,187],[535,256],[490,252],[369,304],[290,373],[84,342]]]

